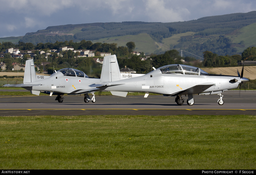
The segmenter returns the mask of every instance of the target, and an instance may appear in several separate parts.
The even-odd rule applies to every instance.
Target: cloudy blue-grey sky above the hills
[[[0,0],[0,37],[94,22],[176,22],[256,10],[255,0]]]

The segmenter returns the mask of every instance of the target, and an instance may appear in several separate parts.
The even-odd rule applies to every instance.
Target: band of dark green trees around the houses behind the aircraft
[[[225,38],[222,38],[225,40]],[[221,40],[222,41],[222,40]],[[197,66],[197,67],[217,67],[217,66],[237,66],[237,63],[241,62],[241,60],[256,60],[256,47],[249,47],[245,49],[242,55],[226,55],[221,56],[211,51],[205,51],[204,61],[200,63],[199,60],[196,60],[193,57],[181,57],[179,52],[175,49],[167,51],[163,54],[159,55],[150,55],[149,58],[142,61],[143,55],[133,55],[131,52],[135,48],[134,42],[126,43],[126,46],[117,47],[116,43],[92,43],[91,41],[82,40],[81,42],[73,42],[73,41],[65,41],[55,43],[38,43],[37,45],[33,45],[32,43],[23,43],[19,42],[18,44],[13,44],[11,42],[3,42],[0,43],[0,48],[2,51],[5,51],[6,48],[17,47],[20,50],[22,49],[38,49],[35,51],[34,63],[36,65],[40,65],[41,62],[51,62],[51,64],[46,65],[45,69],[48,70],[49,73],[53,73],[53,68],[59,70],[61,68],[72,67],[79,70],[84,71],[89,76],[99,77],[101,73],[101,67],[99,63],[95,63],[93,58],[77,58],[78,53],[74,53],[72,50],[63,51],[61,55],[57,53],[52,53],[52,57],[46,57],[44,55],[39,54],[39,50],[48,49],[58,49],[59,47],[64,46],[72,46],[74,49],[93,49],[95,50],[95,54],[99,52],[110,52],[112,55],[115,54],[118,58],[118,63],[120,68],[124,68],[125,66],[135,70],[137,73],[148,73],[152,71],[152,67],[162,67],[164,65],[169,64],[183,64],[182,59],[187,61],[187,65]],[[21,58],[12,58],[10,54],[5,54],[4,58],[0,58],[0,61],[6,63],[7,68],[12,68],[12,63],[23,63],[29,57],[29,55],[25,55],[23,59]],[[99,57],[99,56],[96,56]],[[99,57],[101,58],[101,57]],[[41,70],[42,68],[40,68]]]

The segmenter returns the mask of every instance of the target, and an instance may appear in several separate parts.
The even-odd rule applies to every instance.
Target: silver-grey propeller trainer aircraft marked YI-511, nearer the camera
[[[187,95],[187,104],[194,105],[194,94],[210,95],[218,94],[218,104],[223,105],[222,92],[237,88],[239,84],[249,81],[243,77],[243,68],[238,76],[209,74],[200,68],[174,64],[160,67],[150,73],[121,80],[118,73],[117,60],[103,60],[103,68],[110,64],[109,68],[102,69],[101,86],[97,88],[110,91],[113,95],[123,96],[127,92],[144,92],[147,97],[149,93],[163,94],[164,96],[176,96],[178,105],[184,103],[182,95]],[[132,74],[134,75],[134,74]]]

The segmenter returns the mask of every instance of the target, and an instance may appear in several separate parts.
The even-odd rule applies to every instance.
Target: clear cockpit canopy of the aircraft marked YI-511
[[[188,66],[188,65],[167,65],[158,68],[162,73],[172,73],[172,74],[186,74],[186,75],[208,75],[207,72],[201,70],[198,67]]]

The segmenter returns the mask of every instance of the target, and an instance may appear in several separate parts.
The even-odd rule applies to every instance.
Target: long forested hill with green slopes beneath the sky
[[[161,54],[176,49],[184,56],[204,51],[218,55],[241,54],[256,45],[256,11],[210,16],[184,22],[110,22],[50,26],[27,33],[19,41],[24,43],[55,43],[56,41],[117,43],[124,46],[135,42],[135,50],[147,54]],[[0,39],[0,41],[2,41]],[[14,40],[13,40],[14,41]]]

